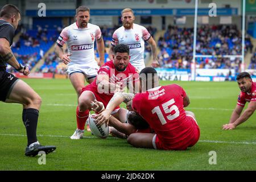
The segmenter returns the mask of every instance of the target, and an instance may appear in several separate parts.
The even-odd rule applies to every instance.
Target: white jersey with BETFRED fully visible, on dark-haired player
[[[57,44],[62,47],[67,43],[68,52],[72,53],[69,64],[87,64],[95,61],[94,40],[100,38],[100,27],[88,23],[86,28],[79,28],[75,22],[61,31]]]

